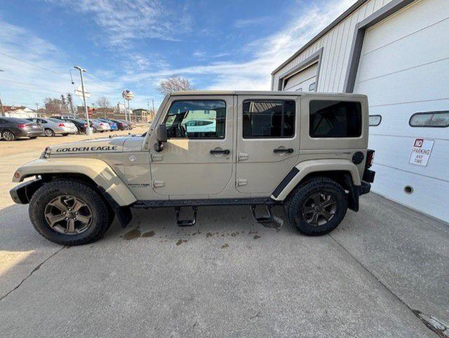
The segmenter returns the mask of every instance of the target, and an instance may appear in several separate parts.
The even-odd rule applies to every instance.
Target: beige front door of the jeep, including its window
[[[150,150],[151,179],[159,196],[214,198],[229,183],[233,169],[233,96],[172,97],[159,123],[167,142]],[[156,142],[151,135],[150,146]]]

